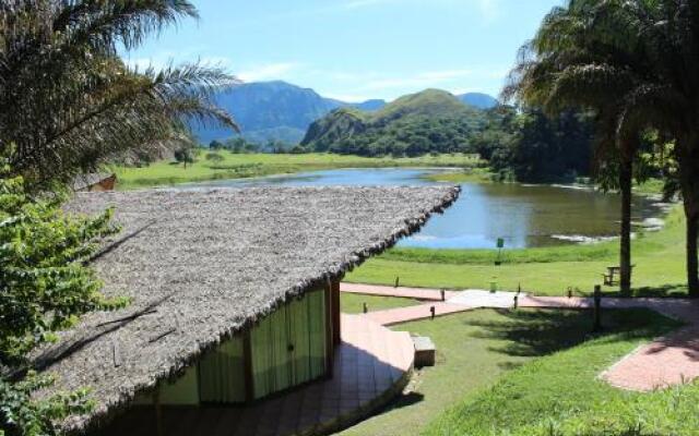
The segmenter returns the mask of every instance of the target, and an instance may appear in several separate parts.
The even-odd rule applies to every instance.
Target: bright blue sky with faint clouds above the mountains
[[[518,48],[561,0],[193,0],[183,21],[125,57],[220,64],[247,82],[393,99],[437,87],[497,96]]]

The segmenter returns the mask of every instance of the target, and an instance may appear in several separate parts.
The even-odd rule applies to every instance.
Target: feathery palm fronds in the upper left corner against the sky
[[[183,17],[186,0],[4,0],[0,4],[0,155],[43,189],[189,141],[192,122],[237,129],[213,105],[235,83],[199,64],[130,68],[118,48]]]

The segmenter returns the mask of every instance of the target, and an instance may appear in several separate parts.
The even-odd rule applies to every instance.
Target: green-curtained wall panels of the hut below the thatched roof
[[[325,293],[307,292],[266,316],[250,330],[254,399],[325,374]],[[204,354],[176,382],[163,384],[161,403],[245,402],[245,362],[241,336],[226,340]],[[140,395],[137,404],[150,404]]]

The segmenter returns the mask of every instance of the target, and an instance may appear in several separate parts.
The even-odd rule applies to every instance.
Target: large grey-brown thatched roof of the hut
[[[454,187],[260,187],[83,193],[69,210],[116,207],[123,226],[94,266],[107,295],[43,353],[57,390],[90,387],[83,428],[289,298],[339,278],[441,211]]]

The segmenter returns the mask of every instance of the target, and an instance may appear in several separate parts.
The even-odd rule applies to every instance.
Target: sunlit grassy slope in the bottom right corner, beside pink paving
[[[615,389],[596,378],[640,342],[673,327],[673,322],[650,312],[613,316],[616,319],[606,322],[611,328],[604,336],[529,363],[494,386],[467,395],[425,434],[696,435],[698,384],[639,393]]]

